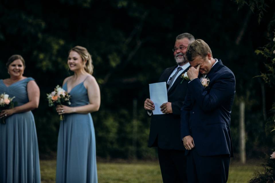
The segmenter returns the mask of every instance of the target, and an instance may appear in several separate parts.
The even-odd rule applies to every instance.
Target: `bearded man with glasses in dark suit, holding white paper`
[[[194,36],[189,33],[182,33],[176,37],[172,49],[176,65],[166,68],[160,75],[158,82],[166,82],[168,102],[161,106],[155,106],[154,101],[149,98],[144,102],[144,109],[151,117],[148,147],[158,147],[164,183],[187,182],[185,148],[180,138],[180,109],[189,81],[186,72],[190,64],[186,60],[186,49],[194,40]],[[154,115],[155,108],[161,108],[164,114]]]

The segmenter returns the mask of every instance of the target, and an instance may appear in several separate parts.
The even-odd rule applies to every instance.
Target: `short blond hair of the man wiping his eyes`
[[[192,43],[190,43],[186,50],[186,58],[188,61],[193,61],[197,56],[201,56],[201,58],[205,58],[207,54],[210,53],[212,56],[212,51],[205,41],[202,39],[196,39]]]

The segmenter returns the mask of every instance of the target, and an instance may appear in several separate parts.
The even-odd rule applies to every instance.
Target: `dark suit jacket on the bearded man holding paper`
[[[165,69],[158,82],[167,82],[176,67],[177,65]],[[187,72],[188,69],[189,67],[182,73]],[[187,84],[188,80],[182,80],[179,75],[167,93],[168,102],[172,104],[173,114],[152,115],[148,147],[185,150],[180,140],[180,114],[187,92]],[[160,106],[155,106],[155,108],[157,107]]]

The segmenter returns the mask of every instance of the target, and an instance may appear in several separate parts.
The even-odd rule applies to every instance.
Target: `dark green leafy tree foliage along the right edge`
[[[274,1],[237,1],[239,7],[243,7],[244,5],[248,5],[253,12],[257,12],[258,14],[258,22],[259,24],[268,17],[268,23],[266,26],[265,36],[266,36],[266,45],[256,49],[257,55],[262,55],[265,59],[264,66],[265,69],[262,70],[261,74],[258,77],[262,78],[262,81],[267,83],[269,87],[273,88],[275,86],[275,13],[274,10],[270,7],[274,8]],[[274,131],[275,131],[275,101],[274,96],[271,100],[273,102],[272,108],[270,109],[270,116],[266,120],[265,131],[267,137],[271,139],[273,142],[273,147],[268,149],[268,152],[272,152],[275,150],[274,148]],[[254,178],[252,178],[249,183],[272,183],[275,180],[275,161],[274,157],[266,157],[266,163],[263,164],[265,167],[263,173],[257,173]]]

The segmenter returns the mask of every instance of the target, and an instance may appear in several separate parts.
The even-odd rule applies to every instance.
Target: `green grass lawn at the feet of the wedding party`
[[[42,183],[55,182],[55,160],[41,160],[40,169]],[[263,170],[260,162],[248,162],[246,165],[232,162],[227,182],[244,183],[250,180],[256,171]],[[99,183],[162,182],[158,162],[97,162],[97,174]]]

